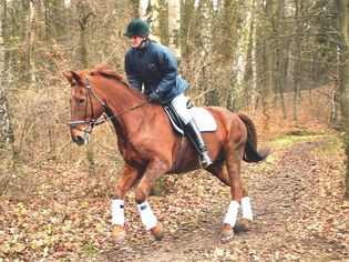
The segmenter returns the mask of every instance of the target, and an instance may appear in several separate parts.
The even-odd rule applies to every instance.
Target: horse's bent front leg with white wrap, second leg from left
[[[168,165],[164,161],[154,160],[148,163],[144,175],[135,190],[135,201],[138,206],[141,220],[146,230],[150,230],[156,240],[162,240],[164,235],[163,226],[157,221],[151,209],[147,196],[156,181],[166,173]]]

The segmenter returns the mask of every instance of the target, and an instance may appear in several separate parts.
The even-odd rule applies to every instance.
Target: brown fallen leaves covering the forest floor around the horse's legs
[[[218,232],[229,188],[204,171],[172,175],[167,194],[150,198],[166,230],[161,242],[145,232],[134,192],[129,192],[126,240],[113,244],[109,196],[113,184],[99,178],[110,191],[86,194],[95,178],[81,172],[81,163],[79,171],[59,167],[57,173],[45,165],[41,175],[50,180],[42,179],[35,192],[0,201],[0,260],[340,260],[349,255],[341,157],[336,138],[318,137],[278,148],[261,164],[244,164],[255,220],[252,231],[228,243],[220,243]]]

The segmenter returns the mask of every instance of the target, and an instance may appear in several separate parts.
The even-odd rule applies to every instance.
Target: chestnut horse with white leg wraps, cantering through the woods
[[[113,190],[113,239],[122,242],[126,235],[123,200],[136,185],[135,202],[141,220],[155,240],[161,240],[164,229],[147,202],[148,194],[163,175],[202,168],[194,145],[184,143],[186,138],[174,131],[162,105],[150,102],[121,73],[96,67],[63,74],[72,87],[69,127],[73,142],[86,144],[93,128],[105,121],[111,121],[115,129],[124,164]],[[222,240],[227,241],[234,236],[234,231],[249,230],[253,220],[248,192],[240,178],[240,163],[243,160],[260,162],[269,152],[257,150],[256,129],[247,115],[220,107],[205,109],[217,124],[215,132],[203,132],[213,160],[206,170],[230,187],[232,200],[220,231]],[[237,220],[239,209],[243,215]]]

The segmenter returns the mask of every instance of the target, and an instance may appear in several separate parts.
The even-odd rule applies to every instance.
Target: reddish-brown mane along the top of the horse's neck
[[[145,98],[145,95],[140,90],[137,90],[136,88],[133,88],[125,80],[123,74],[121,74],[121,73],[119,73],[119,72],[116,72],[114,70],[110,70],[105,66],[100,66],[100,67],[96,67],[94,69],[85,69],[85,70],[82,70],[81,73],[88,74],[88,75],[101,75],[101,77],[104,77],[104,78],[113,79],[116,82],[120,82],[120,83],[124,84],[137,98],[141,98],[141,99]]]

